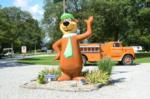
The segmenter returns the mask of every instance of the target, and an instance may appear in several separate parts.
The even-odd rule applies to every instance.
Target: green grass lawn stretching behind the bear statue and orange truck
[[[24,64],[40,64],[40,65],[58,65],[59,61],[54,60],[54,56],[45,57],[34,57],[18,60],[19,63]],[[148,63],[150,62],[150,57],[135,59],[134,63]]]

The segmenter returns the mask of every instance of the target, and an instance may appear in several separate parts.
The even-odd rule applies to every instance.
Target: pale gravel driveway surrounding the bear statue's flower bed
[[[0,66],[0,99],[150,99],[150,63],[116,66],[114,84],[92,92],[60,92],[19,87],[46,66]]]

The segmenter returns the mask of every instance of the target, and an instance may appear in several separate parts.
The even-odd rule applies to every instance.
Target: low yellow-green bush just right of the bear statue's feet
[[[109,80],[109,75],[107,72],[104,71],[92,71],[91,73],[87,73],[85,78],[87,79],[88,82],[97,84],[107,84]]]

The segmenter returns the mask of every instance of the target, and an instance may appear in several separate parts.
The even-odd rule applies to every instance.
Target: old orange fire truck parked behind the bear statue
[[[131,47],[123,47],[121,42],[106,42],[104,44],[80,44],[83,63],[100,61],[104,57],[130,65],[135,59],[135,53]]]

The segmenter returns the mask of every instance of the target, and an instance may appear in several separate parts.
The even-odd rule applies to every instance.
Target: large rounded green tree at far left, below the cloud
[[[30,13],[16,7],[2,8],[0,13],[0,41],[3,47],[19,50],[21,45],[29,48],[40,45],[42,32]]]

